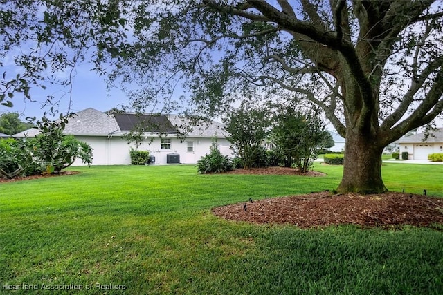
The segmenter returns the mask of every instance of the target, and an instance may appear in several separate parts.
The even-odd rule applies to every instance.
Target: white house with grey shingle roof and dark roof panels
[[[210,152],[214,137],[217,137],[221,153],[231,153],[222,124],[213,121],[203,126],[191,126],[186,118],[179,115],[108,115],[87,108],[69,119],[64,133],[92,146],[93,165],[130,164],[129,151],[135,149],[135,144],[128,144],[124,135],[140,124],[144,126],[145,138],[138,149],[149,151],[155,158],[155,164],[195,164]],[[33,137],[38,132],[37,129],[28,129],[14,137]],[[76,160],[73,165],[80,166],[82,162]]]

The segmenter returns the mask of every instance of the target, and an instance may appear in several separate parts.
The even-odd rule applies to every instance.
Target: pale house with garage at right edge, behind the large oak
[[[401,137],[397,140],[399,152],[408,152],[410,160],[428,160],[430,153],[443,153],[443,128],[437,129],[424,141],[424,133]]]

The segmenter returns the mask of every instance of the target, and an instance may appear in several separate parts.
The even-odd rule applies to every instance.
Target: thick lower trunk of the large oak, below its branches
[[[375,136],[350,132],[346,134],[343,178],[340,193],[383,193],[388,191],[381,179],[383,146]]]

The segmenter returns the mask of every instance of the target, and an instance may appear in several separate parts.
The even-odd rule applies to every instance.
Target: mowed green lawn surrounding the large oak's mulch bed
[[[92,166],[0,184],[0,293],[443,294],[442,231],[302,230],[210,212],[334,189],[342,169],[318,165],[327,176],[308,178]],[[383,179],[390,190],[443,197],[442,169],[385,164]]]

